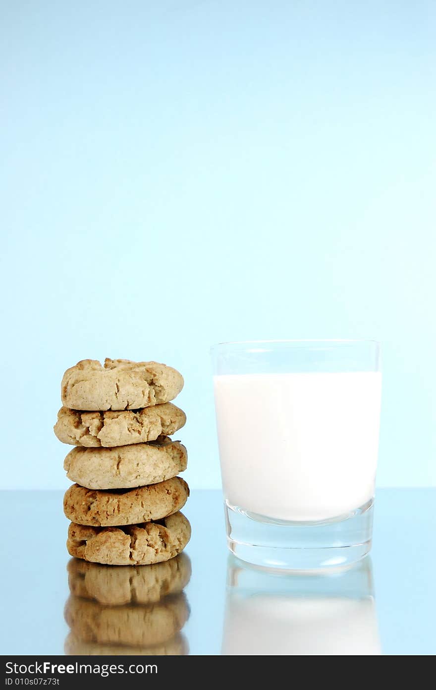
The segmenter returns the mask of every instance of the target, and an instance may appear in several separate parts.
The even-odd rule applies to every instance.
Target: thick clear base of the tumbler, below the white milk
[[[241,560],[275,570],[344,568],[371,548],[374,500],[325,522],[286,522],[224,504],[228,548]]]

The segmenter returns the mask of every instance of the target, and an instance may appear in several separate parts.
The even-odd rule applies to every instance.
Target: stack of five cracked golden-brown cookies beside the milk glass
[[[78,446],[63,464],[70,555],[110,565],[169,560],[190,539],[178,477],[186,448],[168,436],[186,422],[170,403],[184,380],[157,362],[83,359],[63,375],[54,433]]]

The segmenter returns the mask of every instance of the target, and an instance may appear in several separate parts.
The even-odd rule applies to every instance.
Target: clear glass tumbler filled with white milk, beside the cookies
[[[374,340],[212,347],[228,546],[273,569],[368,553],[381,399]]]

